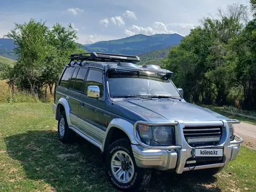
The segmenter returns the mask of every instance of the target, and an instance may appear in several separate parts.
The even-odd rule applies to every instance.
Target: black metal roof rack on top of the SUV
[[[138,56],[131,56],[131,55],[116,55],[116,54],[104,54],[100,52],[86,52],[81,54],[71,54],[70,55],[70,62],[71,65],[72,61],[99,61],[99,62],[131,62],[136,63],[140,61]]]

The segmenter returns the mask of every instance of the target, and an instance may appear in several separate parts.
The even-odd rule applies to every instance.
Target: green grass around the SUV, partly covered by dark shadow
[[[116,191],[98,148],[77,137],[58,140],[49,103],[0,104],[0,191]],[[154,172],[147,191],[256,191],[256,151],[239,156],[215,177]]]

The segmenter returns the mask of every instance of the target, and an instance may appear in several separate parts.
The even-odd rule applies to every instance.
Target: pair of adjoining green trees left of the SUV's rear
[[[83,51],[74,42],[76,33],[71,24],[66,28],[56,23],[52,29],[45,22],[34,19],[29,23],[15,24],[6,35],[15,40],[14,51],[19,55],[16,66],[7,75],[10,83],[15,76],[19,88],[29,88],[33,95],[40,94],[42,87],[47,86],[52,93],[53,84],[70,54]]]

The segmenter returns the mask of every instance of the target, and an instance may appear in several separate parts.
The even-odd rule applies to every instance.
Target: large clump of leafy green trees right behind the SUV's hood
[[[169,52],[165,66],[176,73],[174,81],[184,88],[190,102],[227,104],[230,68],[229,41],[236,38],[248,20],[244,5],[229,5],[215,17],[201,20],[180,45]]]

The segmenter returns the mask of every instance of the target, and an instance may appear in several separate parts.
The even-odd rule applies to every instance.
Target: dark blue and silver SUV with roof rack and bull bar
[[[144,189],[151,170],[215,175],[236,158],[240,123],[183,99],[159,66],[138,66],[138,56],[71,55],[52,106],[64,143],[77,133],[104,153],[111,183]]]

